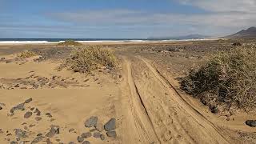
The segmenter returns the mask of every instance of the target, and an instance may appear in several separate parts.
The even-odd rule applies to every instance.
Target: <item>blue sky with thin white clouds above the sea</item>
[[[0,38],[220,36],[255,13],[255,0],[0,0]]]

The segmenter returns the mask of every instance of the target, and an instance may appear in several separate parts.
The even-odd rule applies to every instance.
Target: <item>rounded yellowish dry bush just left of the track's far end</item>
[[[70,58],[66,58],[60,68],[66,67],[74,72],[90,73],[102,66],[112,69],[116,64],[117,58],[111,50],[102,46],[86,46],[72,50]]]

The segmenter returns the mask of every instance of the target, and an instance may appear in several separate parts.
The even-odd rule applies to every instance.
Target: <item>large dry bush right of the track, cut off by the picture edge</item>
[[[182,89],[201,99],[227,106],[256,107],[256,46],[240,46],[212,55],[183,78]]]

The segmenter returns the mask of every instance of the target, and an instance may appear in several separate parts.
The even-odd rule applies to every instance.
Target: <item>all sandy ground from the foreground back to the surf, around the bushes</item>
[[[93,74],[57,69],[72,47],[0,46],[0,58],[11,59],[0,62],[0,143],[35,140],[78,143],[78,136],[90,131],[92,136],[83,141],[254,143],[254,128],[244,123],[254,118],[253,114],[230,117],[212,114],[201,102],[179,89],[176,78],[204,61],[198,56],[207,55],[206,52],[158,49],[191,43],[99,43],[115,51],[119,66],[116,70],[95,70]],[[18,59],[17,54],[22,50],[39,50],[46,59]],[[25,103],[23,110],[10,112],[30,98],[32,101]],[[109,137],[106,130],[98,132],[94,126],[86,127],[86,120],[93,116],[102,125],[114,118],[117,136]],[[50,138],[51,127],[59,133],[54,131]],[[20,134],[21,131],[25,134]]]

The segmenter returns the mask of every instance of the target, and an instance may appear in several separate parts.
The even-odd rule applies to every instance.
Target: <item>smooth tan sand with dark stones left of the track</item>
[[[60,134],[50,138],[51,142],[77,142],[78,135],[92,129],[84,126],[86,118],[98,116],[99,122],[103,124],[110,118],[116,118],[114,103],[120,95],[119,80],[105,71],[86,76],[68,70],[58,71],[55,69],[57,66],[58,62],[51,61],[26,62],[22,65],[15,62],[0,63],[0,79],[5,86],[5,89],[0,90],[0,102],[5,104],[0,110],[1,144],[10,143],[8,139],[15,140],[14,129],[26,130],[27,138],[22,138],[22,141],[30,143],[37,134],[45,135],[52,125],[60,127]],[[60,78],[53,79],[53,76]],[[31,87],[30,83],[38,82],[37,78],[48,78],[48,83],[54,87],[48,86],[48,83],[38,88]],[[19,87],[14,86],[17,83]],[[8,87],[13,90],[6,90]],[[15,111],[10,116],[10,109],[28,98],[33,98],[33,101],[26,104],[26,109]],[[38,116],[35,114],[24,118],[27,111],[34,111],[30,110],[33,107],[41,111],[39,117],[42,120],[36,121]],[[50,113],[52,118],[48,118],[46,113]],[[74,130],[70,132],[70,129]],[[106,132],[102,133],[106,136]],[[118,142],[118,138],[107,137],[105,141],[93,137],[87,140],[91,143]],[[46,143],[46,138],[39,143]]]

